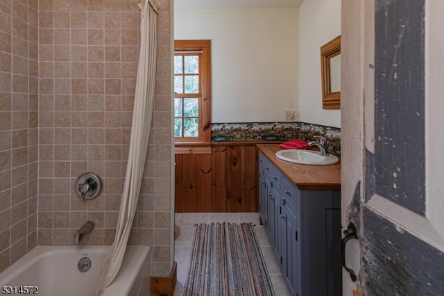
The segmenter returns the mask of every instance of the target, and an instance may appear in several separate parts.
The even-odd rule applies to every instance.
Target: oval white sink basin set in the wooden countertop
[[[276,156],[283,161],[302,165],[334,165],[339,162],[334,155],[321,156],[321,152],[311,150],[285,149],[276,152]]]

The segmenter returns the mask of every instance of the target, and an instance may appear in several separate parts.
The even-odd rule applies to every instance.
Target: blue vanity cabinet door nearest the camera
[[[288,206],[282,206],[280,215],[282,225],[282,274],[284,275],[291,295],[300,295],[300,279],[298,268],[300,265],[299,238],[296,215]]]

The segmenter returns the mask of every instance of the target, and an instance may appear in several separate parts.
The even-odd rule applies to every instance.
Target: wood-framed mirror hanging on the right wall
[[[341,108],[341,36],[321,47],[322,108]]]

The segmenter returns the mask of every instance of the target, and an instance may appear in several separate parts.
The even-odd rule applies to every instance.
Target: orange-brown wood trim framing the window
[[[210,40],[174,40],[174,51],[201,51],[200,57],[200,94],[199,135],[197,138],[175,138],[176,144],[211,143],[211,42]]]

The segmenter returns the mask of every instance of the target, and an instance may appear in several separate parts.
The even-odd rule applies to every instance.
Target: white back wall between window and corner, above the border
[[[174,39],[212,40],[212,122],[278,122],[299,109],[299,8],[174,14]]]

